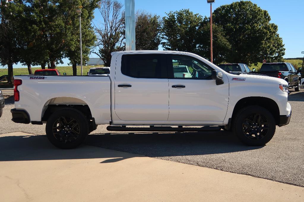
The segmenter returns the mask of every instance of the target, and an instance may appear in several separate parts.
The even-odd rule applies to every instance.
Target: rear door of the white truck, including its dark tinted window
[[[166,54],[126,54],[116,60],[115,113],[122,121],[167,121]]]

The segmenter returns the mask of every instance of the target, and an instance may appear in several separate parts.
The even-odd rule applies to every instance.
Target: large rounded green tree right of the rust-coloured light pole
[[[213,12],[213,22],[223,28],[231,44],[227,62],[257,64],[264,58],[282,61],[285,48],[271,18],[250,1],[222,5]]]

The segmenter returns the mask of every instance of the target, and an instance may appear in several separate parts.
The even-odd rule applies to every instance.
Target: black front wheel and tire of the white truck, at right
[[[263,146],[275,134],[275,118],[265,108],[248,106],[237,112],[233,130],[243,143]]]

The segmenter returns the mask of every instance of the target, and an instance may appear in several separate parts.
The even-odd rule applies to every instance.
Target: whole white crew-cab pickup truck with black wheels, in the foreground
[[[176,62],[192,68],[192,77],[174,77]],[[223,128],[257,146],[291,117],[285,80],[229,74],[186,52],[113,52],[109,76],[14,78],[12,121],[46,123],[48,139],[60,148],[80,145],[100,124],[109,131]]]

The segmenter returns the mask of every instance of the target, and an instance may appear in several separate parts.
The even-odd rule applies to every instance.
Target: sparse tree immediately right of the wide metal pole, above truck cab
[[[161,22],[159,16],[144,11],[136,12],[136,49],[158,50],[161,43]]]

